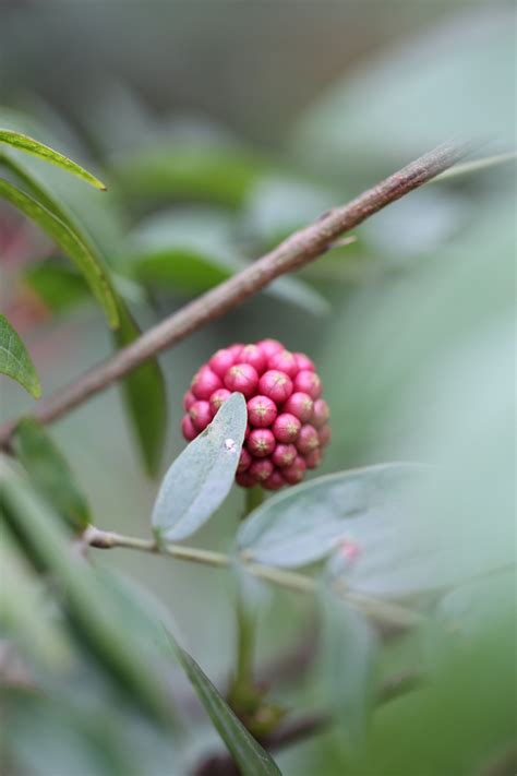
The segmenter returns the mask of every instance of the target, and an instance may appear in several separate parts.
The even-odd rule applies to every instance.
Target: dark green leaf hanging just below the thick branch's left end
[[[13,452],[34,487],[75,530],[91,522],[85,497],[58,447],[34,418],[21,420],[12,438]]]

